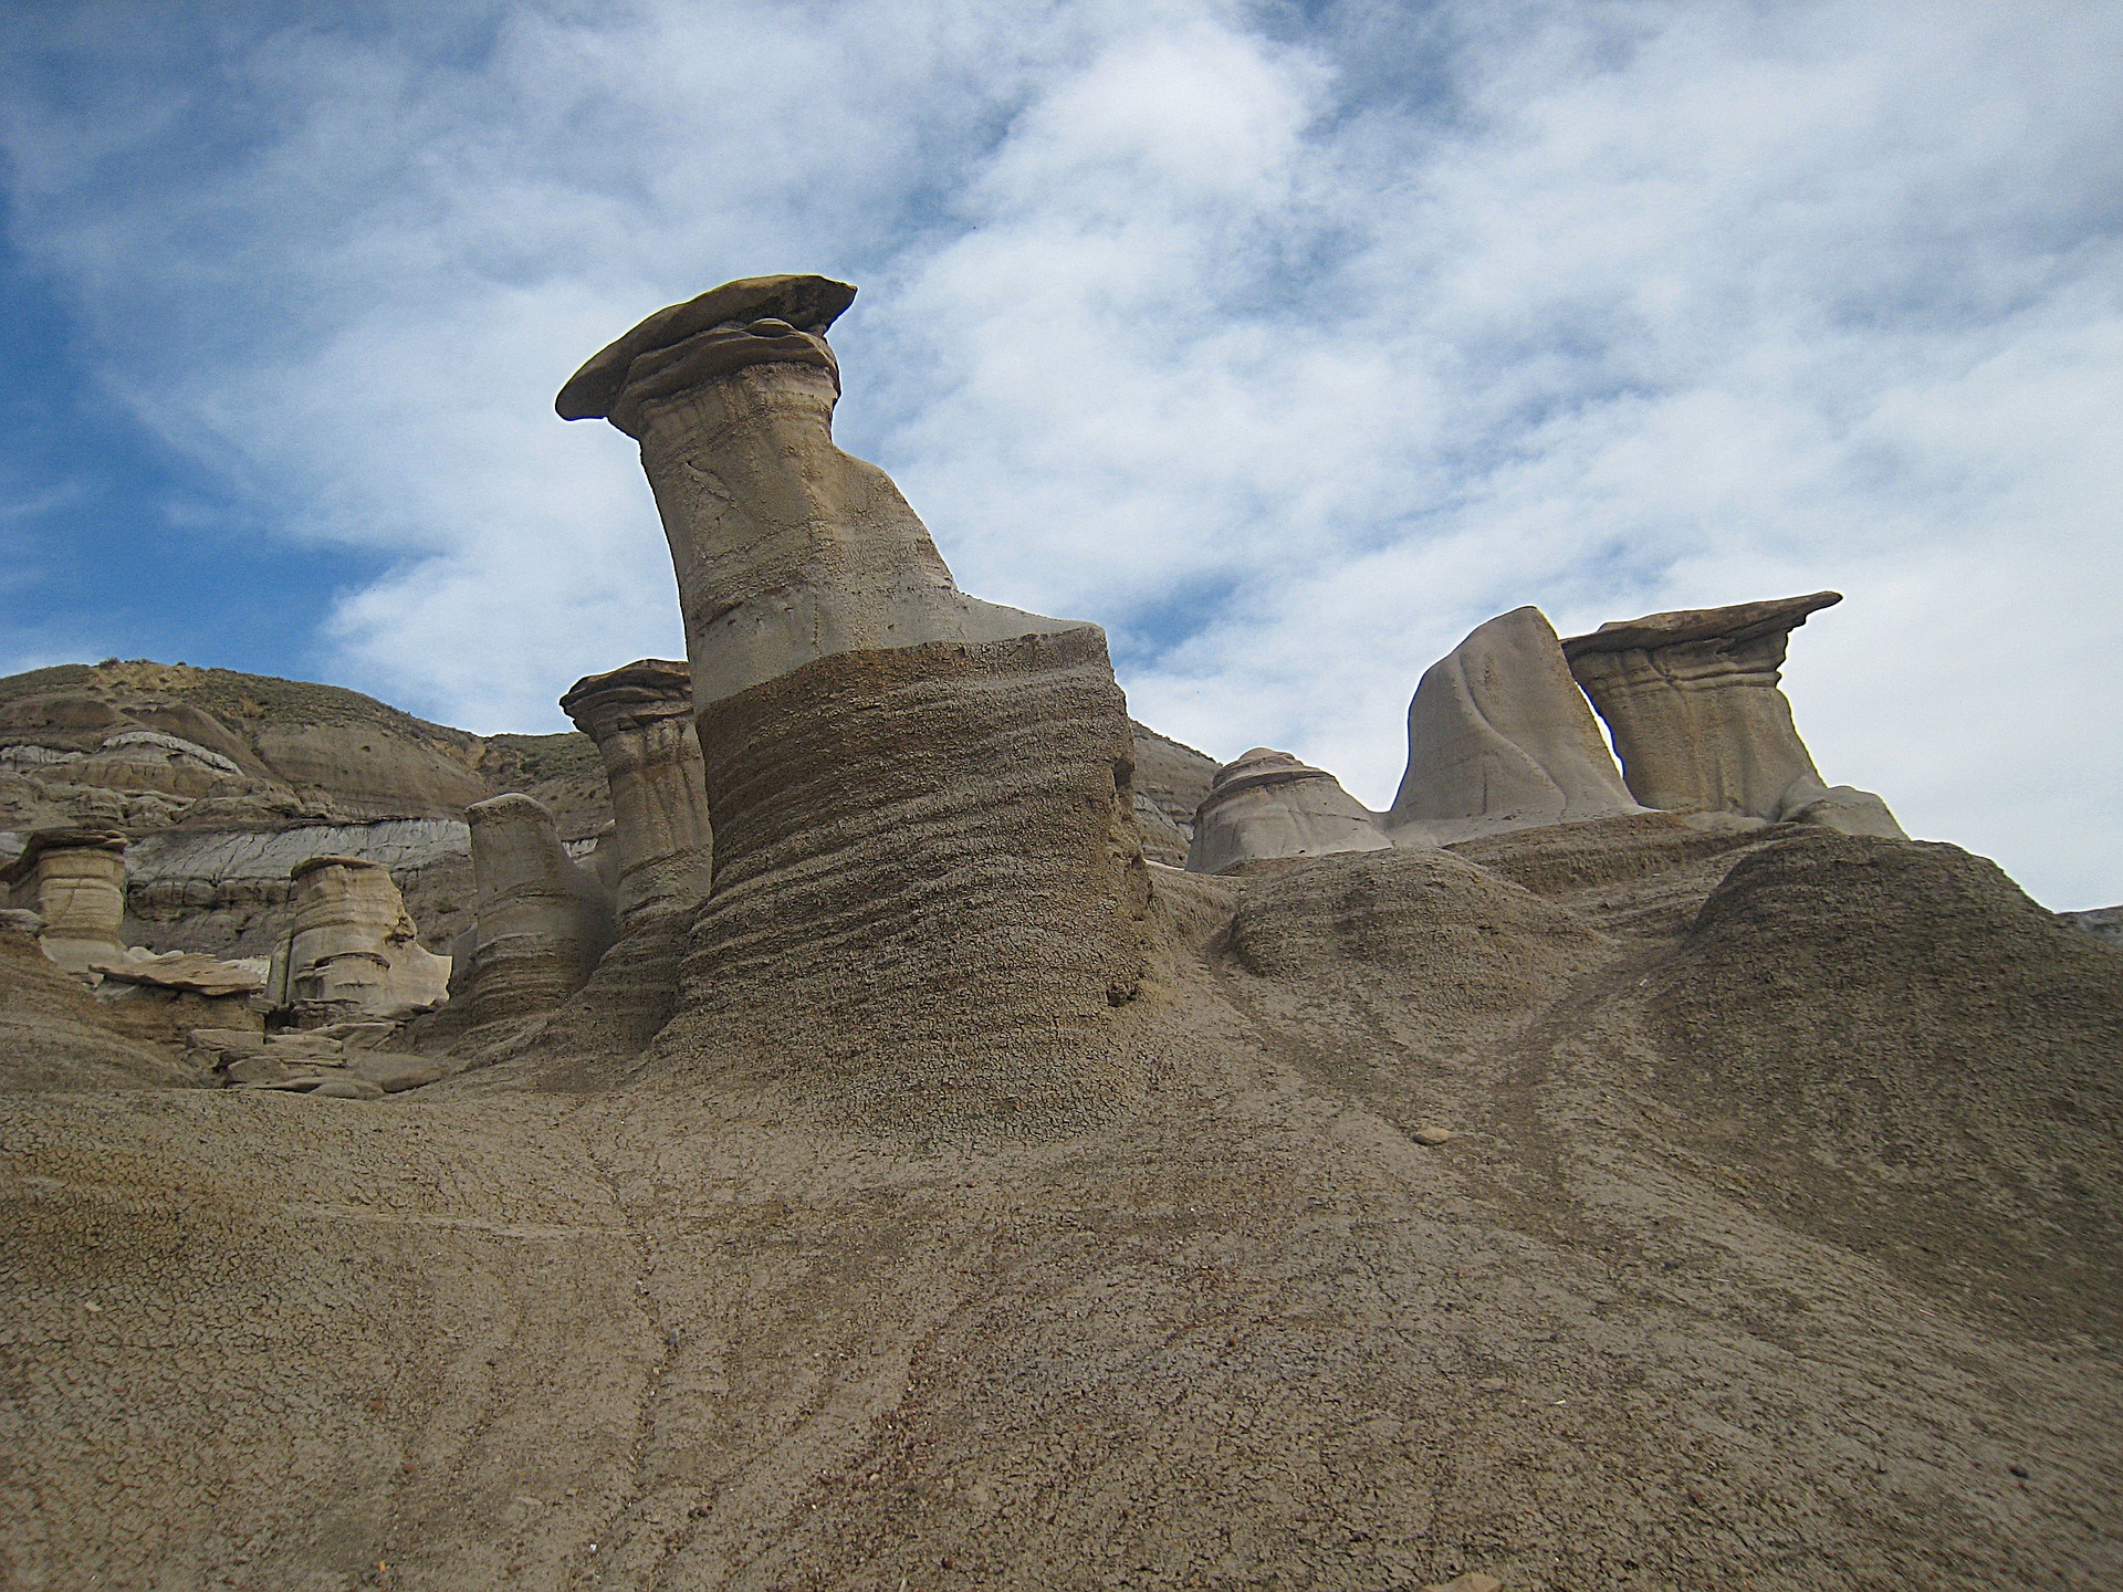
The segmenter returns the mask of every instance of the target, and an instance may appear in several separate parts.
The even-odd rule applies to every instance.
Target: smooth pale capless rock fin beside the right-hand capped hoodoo
[[[1537,607],[1475,626],[1425,671],[1386,813],[1395,845],[1637,811]]]

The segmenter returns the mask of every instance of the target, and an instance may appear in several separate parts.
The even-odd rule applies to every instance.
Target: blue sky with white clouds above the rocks
[[[2123,8],[0,0],[0,671],[478,730],[681,650],[552,395],[862,284],[839,435],[1138,717],[1384,804],[1422,669],[1836,588],[1832,781],[2123,900]]]

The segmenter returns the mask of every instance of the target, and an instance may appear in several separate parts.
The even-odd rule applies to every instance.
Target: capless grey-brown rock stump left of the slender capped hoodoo
[[[552,813],[531,796],[495,796],[465,809],[473,925],[461,936],[452,1000],[476,1023],[550,1010],[588,983],[611,947],[611,898],[567,855]]]

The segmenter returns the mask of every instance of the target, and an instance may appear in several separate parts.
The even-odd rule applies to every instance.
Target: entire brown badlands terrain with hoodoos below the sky
[[[560,393],[688,637],[573,734],[0,681],[0,1588],[2123,1586],[2123,951],[1815,771],[1834,594],[1216,768],[851,297]]]

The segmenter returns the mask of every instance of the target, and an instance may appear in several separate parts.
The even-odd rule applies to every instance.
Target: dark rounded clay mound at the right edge
[[[1652,976],[1662,1087],[1839,1242],[2117,1303],[2123,957],[1960,847],[1792,834]],[[2106,1263],[2100,1257],[2110,1257]]]

